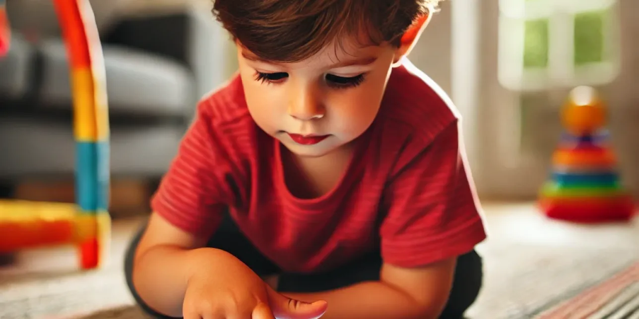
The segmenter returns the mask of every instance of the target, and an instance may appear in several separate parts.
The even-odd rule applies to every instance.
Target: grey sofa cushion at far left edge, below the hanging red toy
[[[8,54],[0,58],[0,96],[17,100],[29,91],[35,50],[19,34],[12,34]],[[4,103],[0,103],[0,107]]]

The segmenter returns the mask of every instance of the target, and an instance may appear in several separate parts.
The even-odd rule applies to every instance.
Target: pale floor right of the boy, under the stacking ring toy
[[[484,288],[471,318],[532,318],[639,260],[639,217],[616,225],[552,221],[531,204],[484,204]]]

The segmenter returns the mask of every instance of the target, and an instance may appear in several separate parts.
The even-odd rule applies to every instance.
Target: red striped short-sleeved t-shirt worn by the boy
[[[426,75],[410,63],[395,68],[339,183],[301,199],[284,182],[281,144],[254,123],[235,77],[199,103],[151,205],[205,236],[229,209],[282,271],[331,269],[380,246],[384,262],[426,265],[486,237],[458,118]]]

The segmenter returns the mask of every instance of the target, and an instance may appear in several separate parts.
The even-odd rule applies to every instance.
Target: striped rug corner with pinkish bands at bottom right
[[[639,262],[537,319],[639,319]]]

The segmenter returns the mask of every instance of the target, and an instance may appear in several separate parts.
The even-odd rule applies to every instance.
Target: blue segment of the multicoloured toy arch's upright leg
[[[75,198],[82,211],[107,211],[109,206],[108,142],[76,143]]]

